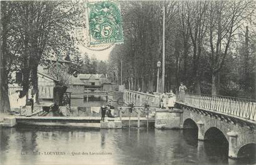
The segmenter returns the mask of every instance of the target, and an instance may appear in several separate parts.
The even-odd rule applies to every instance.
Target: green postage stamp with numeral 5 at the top
[[[87,2],[87,16],[90,45],[124,43],[119,2]]]

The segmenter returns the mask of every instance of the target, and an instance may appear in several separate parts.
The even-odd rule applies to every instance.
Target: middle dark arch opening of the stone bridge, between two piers
[[[207,131],[205,131],[204,139],[229,144],[229,140],[227,139],[225,134],[215,126],[210,127]]]

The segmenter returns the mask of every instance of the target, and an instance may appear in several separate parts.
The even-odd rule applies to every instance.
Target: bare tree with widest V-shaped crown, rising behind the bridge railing
[[[209,16],[209,62],[212,73],[212,95],[217,95],[217,75],[224,65],[229,53],[235,31],[242,25],[251,12],[251,1],[212,1],[207,15]]]

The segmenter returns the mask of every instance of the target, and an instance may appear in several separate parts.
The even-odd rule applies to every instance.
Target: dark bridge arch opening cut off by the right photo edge
[[[237,152],[237,158],[249,158],[254,161],[253,164],[256,163],[256,143],[248,143],[244,144],[239,148],[239,151]]]

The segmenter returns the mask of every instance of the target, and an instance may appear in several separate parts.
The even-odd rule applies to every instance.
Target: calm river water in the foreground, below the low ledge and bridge
[[[146,128],[0,128],[0,164],[245,164],[230,161],[227,146],[197,141],[196,135],[193,130]]]

